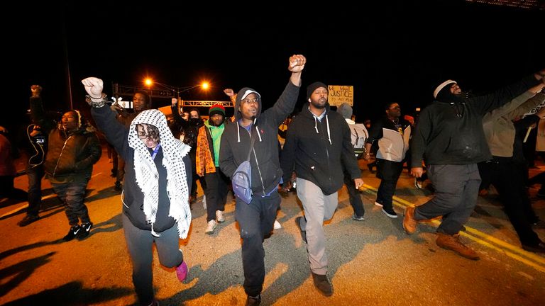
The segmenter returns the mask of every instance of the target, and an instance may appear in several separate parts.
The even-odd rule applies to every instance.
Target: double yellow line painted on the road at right
[[[376,195],[377,189],[373,188],[373,186],[363,184],[363,187],[365,187],[365,189],[361,188],[361,191]],[[400,208],[407,208],[414,205],[413,203],[410,203],[407,200],[403,200],[402,198],[398,198],[397,196],[393,197],[393,203]],[[439,226],[440,224],[438,220],[432,220],[431,223],[436,226]],[[503,240],[492,237],[489,234],[480,232],[479,230],[474,229],[473,227],[468,227],[467,225],[466,231],[460,232],[460,234],[463,237],[477,242],[478,244],[482,244],[489,249],[494,249],[495,251],[503,253],[511,257],[512,259],[526,264],[527,266],[535,268],[537,271],[545,273],[545,258],[542,256],[539,256],[529,251],[524,251],[524,249],[521,249],[519,246],[515,246]]]

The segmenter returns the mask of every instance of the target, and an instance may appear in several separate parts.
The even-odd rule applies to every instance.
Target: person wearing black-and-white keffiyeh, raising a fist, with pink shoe
[[[192,174],[187,154],[191,147],[175,139],[165,115],[155,109],[139,113],[126,128],[104,106],[102,80],[89,77],[82,83],[97,126],[126,162],[123,230],[138,302],[158,305],[153,292],[153,244],[163,266],[176,267],[180,281],[187,276],[179,238],[187,237],[191,224],[188,184]]]

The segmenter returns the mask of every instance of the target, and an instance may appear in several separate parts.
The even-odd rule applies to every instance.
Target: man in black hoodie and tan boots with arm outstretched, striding
[[[444,81],[434,91],[433,104],[419,115],[412,138],[411,174],[422,176],[425,157],[435,196],[418,208],[405,210],[403,228],[407,234],[417,230],[420,220],[442,216],[436,244],[468,259],[478,254],[459,240],[458,232],[468,221],[477,203],[480,185],[478,162],[492,159],[483,132],[485,113],[511,101],[543,81],[545,71],[488,94],[465,98],[456,81]]]

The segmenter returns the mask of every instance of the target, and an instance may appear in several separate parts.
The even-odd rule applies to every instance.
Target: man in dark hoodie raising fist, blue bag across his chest
[[[252,200],[246,204],[236,198],[235,217],[240,228],[242,242],[242,266],[244,291],[248,295],[246,305],[258,305],[265,280],[265,250],[263,239],[272,231],[276,212],[280,207],[277,186],[282,179],[278,159],[278,125],[292,113],[306,58],[290,57],[288,69],[292,72],[282,96],[267,111],[262,111],[261,96],[245,87],[238,91],[235,102],[236,122],[225,126],[221,135],[219,166],[229,178],[248,157],[251,149]],[[256,137],[251,148],[251,138]],[[291,172],[290,172],[291,174]]]

